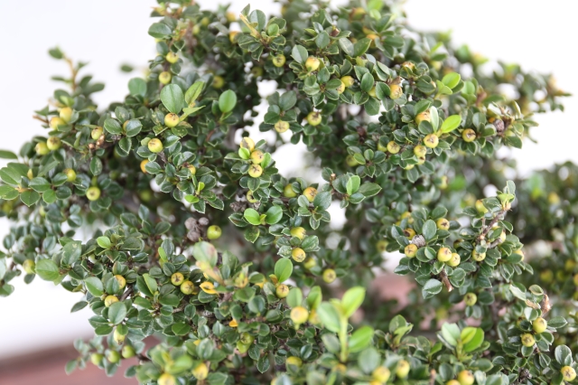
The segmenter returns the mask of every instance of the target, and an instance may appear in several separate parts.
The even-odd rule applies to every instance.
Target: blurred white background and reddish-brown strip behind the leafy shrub
[[[218,2],[199,3],[215,9]],[[229,9],[239,13],[247,3],[248,0],[234,0]],[[106,83],[104,91],[94,98],[102,107],[124,99],[126,82],[141,76],[146,62],[155,56],[154,39],[147,34],[153,23],[149,14],[155,4],[154,0],[2,2],[5,16],[0,35],[5,39],[0,61],[0,73],[4,74],[0,148],[16,152],[26,140],[44,133],[40,123],[32,118],[33,110],[45,107],[53,89],[61,87],[50,77],[68,70],[63,62],[49,57],[47,52],[55,45],[74,60],[88,61],[83,73]],[[271,0],[250,4],[266,14],[280,9]],[[574,2],[564,0],[551,0],[547,6],[538,0],[408,0],[403,9],[409,23],[417,29],[452,31],[456,44],[467,42],[472,52],[480,52],[491,61],[517,62],[525,70],[552,72],[561,89],[576,95],[578,77],[574,74],[572,36],[578,35],[578,28],[574,6]],[[124,63],[134,66],[135,71],[126,74],[119,70]],[[487,64],[487,70],[493,68]],[[513,152],[521,174],[566,160],[578,162],[578,127],[573,120],[578,99],[567,98],[564,104],[566,113],[557,111],[536,117],[540,127],[533,136],[539,147],[526,142],[523,150]],[[252,137],[263,135],[256,129]],[[293,174],[300,168],[293,162],[294,151],[294,147],[291,151],[281,148],[275,154],[284,174]],[[335,212],[338,218],[339,214]],[[0,220],[0,239],[7,232],[7,221]],[[0,298],[0,384],[136,383],[123,378],[128,365],[117,372],[114,380],[105,382],[104,372],[92,365],[66,376],[65,363],[76,357],[73,341],[92,336],[89,309],[70,314],[79,295],[40,279],[30,286],[18,278],[12,283],[14,294]]]

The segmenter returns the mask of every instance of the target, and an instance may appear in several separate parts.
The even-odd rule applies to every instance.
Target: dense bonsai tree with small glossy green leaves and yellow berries
[[[71,73],[36,111],[46,136],[0,153],[0,295],[38,276],[94,313],[67,371],[135,357],[126,375],[159,385],[575,381],[578,169],[519,179],[499,151],[562,109],[551,76],[488,73],[380,1],[152,16],[158,55],[125,100],[98,108],[104,86],[53,49]],[[275,167],[300,142],[312,180]],[[370,286],[393,273],[413,282],[404,305]]]

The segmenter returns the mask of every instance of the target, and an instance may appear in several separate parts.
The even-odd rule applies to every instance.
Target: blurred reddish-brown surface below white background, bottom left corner
[[[126,360],[114,377],[88,362],[85,370],[77,369],[70,375],[64,371],[66,362],[78,357],[72,346],[34,352],[0,361],[0,385],[135,385],[135,379],[126,379],[125,371],[135,364]]]

